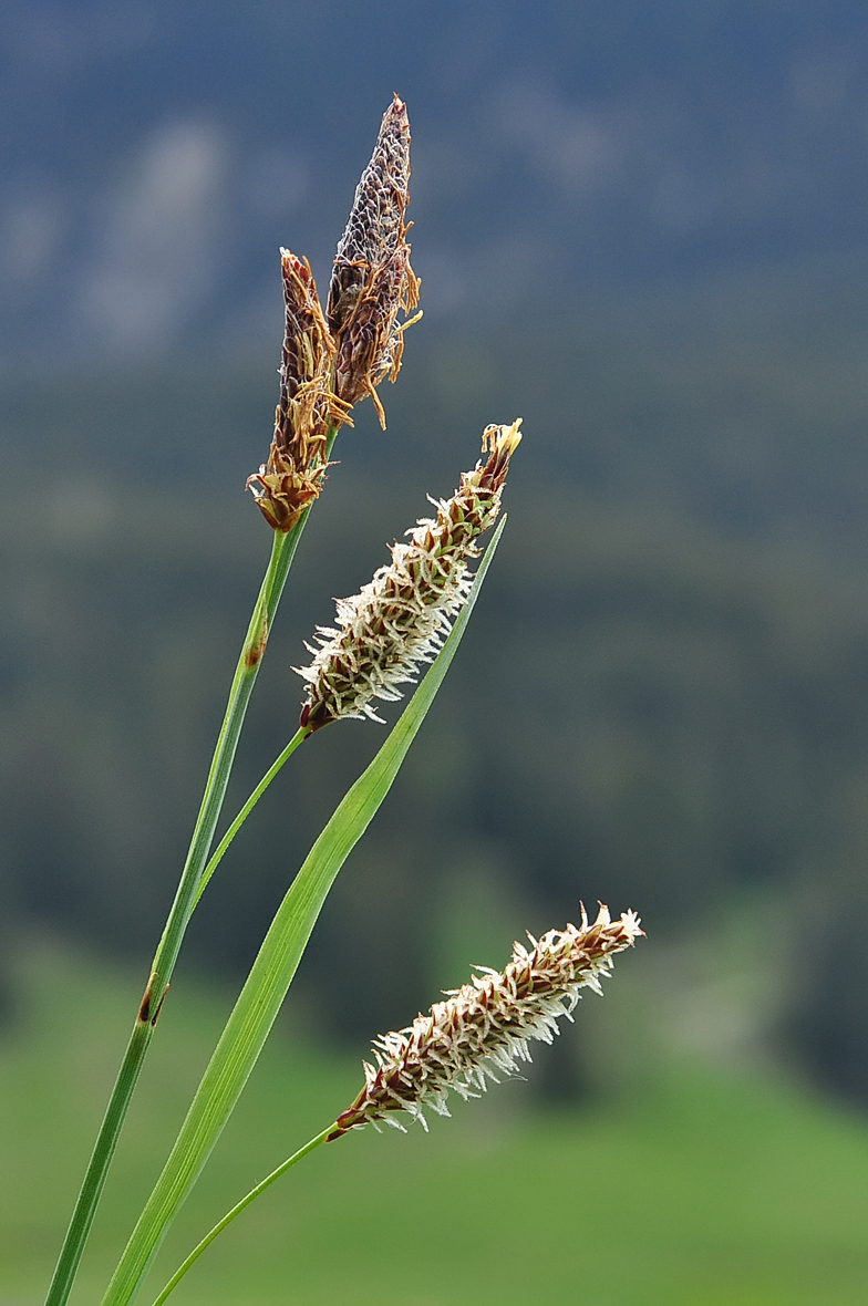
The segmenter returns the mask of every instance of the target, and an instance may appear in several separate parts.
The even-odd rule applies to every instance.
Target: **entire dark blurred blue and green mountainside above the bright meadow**
[[[486,423],[520,414],[526,440],[306,1000],[337,1033],[401,1021],[468,902],[506,946],[609,897],[663,948],[762,900],[779,1047],[864,1101],[864,5],[5,8],[4,929],[153,946],[268,550],[243,485],[276,401],[277,251],[324,285],[399,91],[425,317],[388,431],[366,405],[341,434],[230,803],[294,729],[289,669],[332,596]],[[209,887],[197,964],[241,970],[382,738],[342,724],[292,760]]]

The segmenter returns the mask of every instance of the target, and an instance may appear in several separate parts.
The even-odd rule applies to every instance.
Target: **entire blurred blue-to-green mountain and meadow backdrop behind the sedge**
[[[1,1306],[42,1299],[268,555],[278,247],[324,291],[392,91],[425,317],[388,430],[341,435],[227,812],[332,596],[522,414],[510,524],[162,1271],[374,1034],[601,899],[648,939],[527,1084],[328,1149],[179,1306],[863,1302],[864,7],[9,3],[0,59]],[[315,737],[221,866],[73,1299],[383,737]]]

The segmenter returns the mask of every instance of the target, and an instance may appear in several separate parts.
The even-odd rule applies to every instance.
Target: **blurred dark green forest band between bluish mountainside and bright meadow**
[[[770,892],[796,951],[818,885],[847,912],[868,756],[859,274],[597,308],[597,330],[574,336],[418,328],[388,431],[367,414],[341,435],[235,801],[294,727],[289,667],[331,596],[370,576],[426,491],[450,491],[484,421],[526,405],[482,602],[312,943],[309,993],[340,990],[336,1030],[425,1000],[431,922],[461,880],[542,919],[579,896],[637,904],[663,939]],[[264,454],[272,374],[199,359],[73,377],[56,400],[34,377],[7,384],[3,895],[10,921],[144,957],[268,547],[241,487]],[[380,739],[346,722],[305,746],[209,889],[200,960],[251,956]],[[374,939],[376,973],[359,966]],[[858,957],[856,936],[812,934],[822,1019],[797,985],[780,1011],[782,1033],[855,1096]],[[838,1010],[847,1036],[830,1051]]]

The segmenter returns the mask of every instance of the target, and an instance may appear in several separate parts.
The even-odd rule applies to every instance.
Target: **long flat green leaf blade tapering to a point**
[[[391,789],[443,683],[505,524],[506,517],[485,551],[468,602],[441,653],[370,767],[342,798],[277,909],[166,1166],[118,1264],[103,1306],[125,1306],[132,1301],[169,1225],[220,1138],[286,996],[326,896]]]

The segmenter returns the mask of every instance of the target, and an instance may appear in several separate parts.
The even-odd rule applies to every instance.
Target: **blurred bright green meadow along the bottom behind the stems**
[[[22,964],[18,1010],[0,1040],[0,1306],[41,1301],[136,990],[132,977],[44,944]],[[225,1011],[226,994],[183,976],[176,990],[73,1294],[80,1306],[99,1299]],[[142,1306],[358,1080],[352,1057],[276,1032]],[[458,1102],[430,1136],[365,1131],[322,1149],[209,1249],[173,1301],[519,1298],[861,1306],[868,1122],[774,1077],[699,1063],[663,1063],[612,1105],[570,1111],[532,1111],[523,1085],[506,1084],[484,1102]]]

